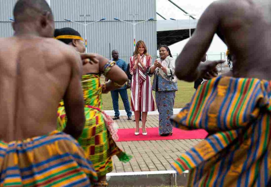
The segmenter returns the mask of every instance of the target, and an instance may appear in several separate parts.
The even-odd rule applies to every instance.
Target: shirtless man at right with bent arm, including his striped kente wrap
[[[233,70],[219,77],[216,65],[223,61],[200,64],[215,33],[234,57]],[[175,73],[190,82],[213,78],[172,117],[179,128],[210,135],[173,163],[179,173],[190,169],[188,186],[270,186],[271,1],[213,2],[178,56]]]

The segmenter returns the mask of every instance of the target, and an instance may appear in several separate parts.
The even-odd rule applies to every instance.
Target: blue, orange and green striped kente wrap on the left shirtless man
[[[0,186],[90,186],[89,179],[98,179],[92,163],[63,132],[0,141]]]

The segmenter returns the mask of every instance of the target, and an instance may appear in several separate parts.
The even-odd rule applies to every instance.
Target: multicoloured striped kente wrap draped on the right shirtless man
[[[172,165],[188,186],[267,186],[271,176],[271,81],[217,77],[200,85],[172,117],[181,129],[209,136]]]

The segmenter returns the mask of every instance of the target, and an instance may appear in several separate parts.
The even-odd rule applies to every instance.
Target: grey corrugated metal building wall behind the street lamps
[[[12,36],[13,31],[8,17],[12,17],[12,9],[16,0],[0,0],[0,36]],[[111,50],[119,50],[120,57],[128,62],[133,53],[133,26],[130,13],[140,14],[136,20],[143,21],[150,17],[156,20],[156,0],[51,0],[51,8],[55,17],[55,27],[71,27],[84,37],[84,26],[64,19],[83,23],[80,14],[90,14],[87,23],[106,17],[105,21],[87,26],[88,52],[99,53],[107,58]],[[150,55],[156,55],[156,21],[147,21],[135,26],[136,40],[146,42]]]

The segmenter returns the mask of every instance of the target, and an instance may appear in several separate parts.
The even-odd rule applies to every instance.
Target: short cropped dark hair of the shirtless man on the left
[[[46,12],[50,12],[53,17],[52,10],[45,0],[19,0],[14,6],[13,16],[15,21],[22,21]]]

